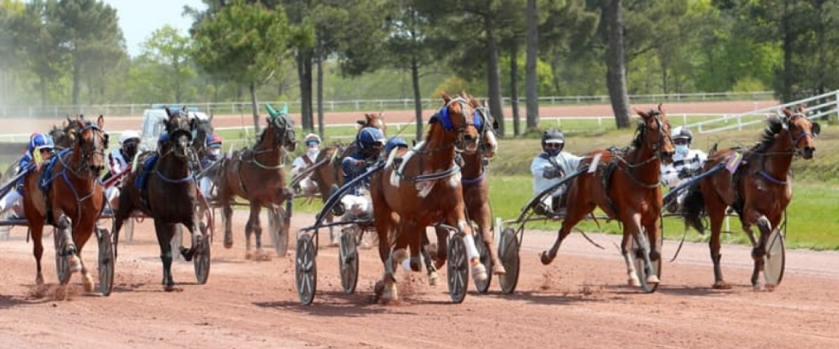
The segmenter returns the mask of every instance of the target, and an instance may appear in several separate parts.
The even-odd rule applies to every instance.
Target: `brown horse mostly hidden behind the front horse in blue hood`
[[[483,243],[489,252],[492,263],[492,274],[503,275],[506,273],[504,266],[498,261],[498,251],[494,248],[495,238],[492,235],[492,210],[489,203],[489,182],[487,181],[487,160],[495,156],[498,150],[498,142],[495,134],[492,133],[492,116],[486,106],[482,105],[475,98],[469,98],[472,108],[483,118],[481,142],[478,151],[474,153],[463,153],[461,165],[463,185],[463,200],[466,204],[466,217],[477,223],[478,231],[481,234]],[[435,268],[439,269],[446,262],[446,234],[444,228],[436,228],[437,253],[435,255]],[[432,245],[433,246],[433,245]],[[430,272],[430,284],[435,284],[436,273]]]

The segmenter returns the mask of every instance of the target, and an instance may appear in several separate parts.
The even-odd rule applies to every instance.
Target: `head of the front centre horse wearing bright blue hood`
[[[444,104],[436,115],[436,120],[443,126],[444,131],[455,133],[457,151],[464,151],[467,154],[476,152],[482,120],[472,108],[468,97],[461,95],[452,97],[446,92],[443,92],[441,96]]]

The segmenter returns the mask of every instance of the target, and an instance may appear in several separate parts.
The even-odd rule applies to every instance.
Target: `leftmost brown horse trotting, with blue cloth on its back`
[[[41,256],[44,254],[42,236],[44,223],[59,228],[55,237],[64,250],[55,251],[66,257],[70,273],[61,285],[70,282],[70,275],[81,270],[82,284],[87,292],[93,290],[93,278],[81,259],[81,250],[96,228],[102,212],[105,194],[99,175],[105,168],[107,135],[102,128],[105,118],[99,115],[96,124],[76,116],[77,129],[71,151],[62,151],[50,159],[50,166],[35,167],[23,179],[23,210],[34,243],[37,274],[35,283],[44,284],[41,274]],[[42,172],[46,171],[43,173]],[[39,185],[39,178],[49,182],[46,192]]]

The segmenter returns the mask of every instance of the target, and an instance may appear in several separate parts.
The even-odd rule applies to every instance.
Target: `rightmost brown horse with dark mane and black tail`
[[[754,269],[752,285],[758,286],[758,274],[763,270],[766,243],[769,234],[779,227],[784,210],[792,199],[792,182],[789,176],[793,157],[813,157],[815,137],[821,131],[818,123],[804,115],[803,107],[795,112],[783,109],[784,115],[769,118],[760,142],[751,149],[731,148],[712,153],[703,171],[742,157],[742,165],[733,172],[720,171],[690,187],[683,209],[685,222],[700,232],[704,231],[701,213],[706,212],[711,221],[711,261],[714,263],[715,289],[730,287],[722,280],[720,269],[720,231],[726,208],[732,207],[743,223],[743,231],[752,241]],[[760,238],[756,240],[752,225],[757,224]]]

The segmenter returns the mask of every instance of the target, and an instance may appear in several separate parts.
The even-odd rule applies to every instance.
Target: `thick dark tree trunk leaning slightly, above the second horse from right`
[[[622,0],[609,0],[603,11],[606,17],[608,45],[606,84],[615,124],[618,129],[629,127],[629,96],[627,94],[626,53],[623,46]]]

